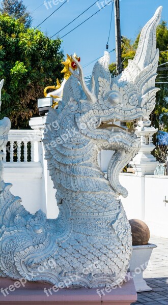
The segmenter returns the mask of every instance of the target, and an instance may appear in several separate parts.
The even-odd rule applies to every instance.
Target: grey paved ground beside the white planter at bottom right
[[[150,242],[158,248],[153,250],[144,278],[153,291],[139,292],[137,302],[132,304],[168,305],[168,239],[151,237]]]

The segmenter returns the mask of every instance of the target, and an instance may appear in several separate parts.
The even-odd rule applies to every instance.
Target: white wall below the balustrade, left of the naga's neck
[[[11,193],[22,199],[26,210],[35,214],[42,209],[48,219],[54,219],[59,215],[56,191],[44,160],[42,143],[37,144],[35,155],[39,162],[4,162],[4,181],[13,185]]]

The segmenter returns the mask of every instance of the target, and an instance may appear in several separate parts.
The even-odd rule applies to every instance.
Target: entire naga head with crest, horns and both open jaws
[[[109,53],[105,52],[95,64],[90,85],[87,86],[78,59],[71,55],[71,62],[74,62],[78,69],[74,71],[69,68],[72,75],[64,85],[62,102],[57,110],[50,110],[47,115],[47,125],[56,119],[61,128],[56,133],[48,132],[44,137],[45,143],[51,142],[55,137],[62,139],[73,129],[78,135],[67,141],[72,149],[74,144],[79,145],[90,140],[97,147],[94,151],[116,151],[108,166],[107,180],[115,193],[124,197],[127,196],[127,191],[120,185],[119,173],[134,157],[141,144],[134,132],[129,133],[121,127],[111,127],[114,127],[116,120],[148,120],[155,107],[156,92],[159,90],[155,87],[159,60],[156,27],[160,21],[161,11],[162,7],[159,7],[153,18],[144,26],[134,59],[129,60],[128,67],[115,78],[111,78]],[[57,145],[62,145],[58,148],[59,151],[64,150],[62,140],[57,142]],[[52,158],[51,151],[47,159]],[[76,151],[74,149],[74,156]],[[54,149],[53,154],[55,156]],[[96,156],[95,154],[95,160]],[[72,160],[69,158],[67,162],[71,164]]]

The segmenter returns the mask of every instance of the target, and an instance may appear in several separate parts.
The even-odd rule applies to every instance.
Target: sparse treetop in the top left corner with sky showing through
[[[25,27],[30,27],[32,24],[32,16],[23,4],[22,0],[3,0],[1,2],[1,13],[7,14],[22,22]]]

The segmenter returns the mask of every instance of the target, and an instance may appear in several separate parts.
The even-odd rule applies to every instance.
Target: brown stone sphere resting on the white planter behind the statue
[[[145,222],[139,219],[129,220],[132,231],[132,246],[147,245],[150,230]]]

